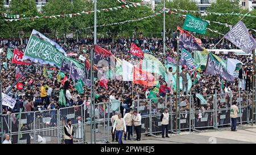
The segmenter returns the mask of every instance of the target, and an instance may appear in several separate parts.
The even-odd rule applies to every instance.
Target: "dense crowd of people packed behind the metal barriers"
[[[126,37],[119,37],[114,42],[112,42],[111,38],[98,38],[97,44],[102,48],[105,48],[111,51],[115,57],[120,59],[125,59],[126,61],[137,64],[139,62],[139,58],[135,57],[133,54],[130,53],[131,43],[134,42],[139,48],[142,49],[145,53],[151,53],[159,59],[160,62],[163,64],[166,62],[167,57],[171,57],[176,59],[176,53],[173,51],[174,49],[174,37],[170,36],[166,38],[166,55],[163,54],[163,40],[162,38],[156,37],[139,37],[139,38],[126,38]],[[206,49],[210,49],[220,40],[219,37],[217,38],[201,38],[202,46]],[[84,57],[89,58],[89,51],[93,46],[93,38],[82,38],[79,42],[75,40],[68,40],[65,44],[63,40],[53,40],[56,41],[67,53],[76,53],[77,55],[71,56],[79,60],[79,55],[83,55]],[[2,68],[2,90],[3,93],[6,93],[11,85],[17,79],[16,73],[17,70],[20,72],[24,72],[28,65],[17,65],[11,63],[11,59],[7,59],[7,49],[18,49],[24,52],[26,49],[26,45],[28,42],[28,38],[23,39],[23,45],[20,45],[20,41],[15,38],[1,38],[0,39],[0,53],[1,53],[1,68]],[[218,44],[215,48],[218,49],[236,49],[236,46],[231,44],[229,41],[225,40]],[[84,52],[85,51],[85,52]],[[249,92],[252,90],[252,79],[251,75],[253,74],[253,59],[252,57],[245,56],[245,55],[235,55],[234,53],[228,54],[217,54],[219,57],[227,60],[227,58],[238,59],[245,64],[243,70],[245,72],[245,76],[239,77],[240,79],[244,79],[246,81],[246,87],[241,89],[241,96],[243,97],[242,105],[250,104],[250,100],[248,100]],[[3,62],[7,63],[7,68],[3,65]],[[18,69],[17,69],[18,68]],[[166,68],[169,70],[169,68]],[[191,76],[192,81],[194,79],[195,72],[189,72],[186,67],[182,68],[184,73],[189,73]],[[169,70],[170,71],[170,70]],[[46,77],[43,74],[43,67],[38,65],[32,65],[30,70],[24,75],[24,77],[19,81],[19,83],[23,84],[23,89],[19,90],[17,88],[11,88],[11,91],[7,93],[8,96],[14,98],[16,100],[16,104],[14,109],[10,109],[8,106],[3,106],[3,114],[11,114],[11,113],[18,113],[20,109],[22,111],[37,111],[37,110],[46,110],[46,109],[59,109],[64,107],[63,105],[59,104],[59,96],[60,96],[60,89],[65,89],[65,100],[67,101],[66,106],[75,106],[75,105],[82,105],[84,110],[88,111],[90,109],[90,87],[84,86],[84,93],[79,94],[76,89],[73,87],[74,83],[71,79],[65,81],[65,84],[62,85],[61,82],[57,80],[57,73],[58,70],[52,72],[52,77]],[[228,81],[224,80],[224,88],[221,87],[222,82],[218,79],[218,76],[214,75],[207,75],[205,74],[204,70],[199,72],[201,74],[201,78],[196,81],[195,84],[192,85],[190,90],[187,90],[187,83],[185,83],[185,88],[183,87],[182,95],[180,100],[185,101],[187,105],[181,107],[181,111],[188,111],[189,110],[189,96],[188,92],[190,91],[193,100],[195,102],[195,110],[199,110],[201,112],[197,113],[197,118],[202,118],[202,115],[205,110],[212,110],[213,109],[213,97],[210,96],[217,91],[217,94],[222,94],[225,92],[224,88],[230,88],[233,93],[233,100],[234,98],[238,97],[238,78],[235,79],[234,83],[229,83]],[[65,75],[69,77],[69,74]],[[242,74],[244,75],[244,74]],[[180,74],[181,78],[186,79],[185,74]],[[61,79],[63,80],[63,79]],[[149,111],[149,103],[147,101],[142,101],[137,105],[135,100],[139,98],[139,100],[145,100],[148,98],[149,92],[154,89],[154,87],[144,87],[143,85],[134,84],[134,89],[131,91],[131,83],[122,80],[110,80],[108,83],[108,89],[100,86],[98,84],[99,80],[95,80],[94,88],[95,94],[98,94],[96,98],[96,103],[99,102],[107,102],[110,99],[119,100],[121,102],[120,109],[123,111],[125,109],[125,113],[121,113],[121,117],[127,117],[127,113],[130,112],[130,109],[138,110],[138,106],[143,106],[144,109],[139,110],[140,115],[147,115],[149,113],[153,114],[162,114],[164,109],[159,109],[157,106],[158,104],[152,104],[152,111]],[[184,80],[185,82],[185,80]],[[172,88],[166,87],[168,86],[167,83],[164,81],[164,77],[160,76],[159,78],[160,90],[158,97],[164,96],[165,94],[168,97],[172,98],[172,103],[170,100],[167,101],[167,110],[176,111],[176,99],[175,99],[175,90]],[[168,91],[166,91],[168,89]],[[185,92],[185,93],[184,93]],[[203,96],[209,95],[207,97],[208,104],[201,105],[199,98],[195,97],[196,93],[200,93]],[[225,100],[227,102],[221,103],[218,102],[218,109],[224,107],[230,107],[230,95],[223,94]],[[220,99],[223,96],[219,96]],[[201,115],[201,116],[200,116]],[[89,115],[88,115],[89,117]],[[165,116],[163,116],[165,117]],[[183,115],[187,119],[187,116]],[[212,119],[212,114],[209,114],[209,119]],[[146,120],[145,120],[146,121]],[[221,121],[220,121],[221,122]],[[143,123],[143,122],[142,122]],[[223,122],[222,122],[223,124]],[[199,124],[200,126],[200,124]],[[115,128],[113,124],[113,128]],[[147,130],[148,127],[145,127]],[[166,126],[167,128],[167,126]],[[127,139],[130,139],[130,128],[126,128],[127,130]],[[139,131],[138,131],[139,132]],[[163,135],[164,136],[164,135]],[[167,135],[168,136],[168,135]],[[126,134],[125,134],[126,138]],[[113,138],[114,140],[114,138]],[[140,140],[138,137],[137,140]],[[119,143],[122,143],[119,141]]]

